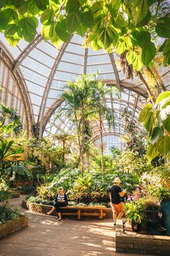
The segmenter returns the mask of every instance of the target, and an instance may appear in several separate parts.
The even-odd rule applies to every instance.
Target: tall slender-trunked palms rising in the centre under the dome
[[[92,136],[92,125],[90,121],[96,120],[100,123],[101,131],[101,154],[102,173],[104,173],[103,162],[103,117],[106,117],[109,125],[113,123],[113,112],[106,107],[104,96],[109,93],[95,75],[82,75],[75,82],[68,83],[67,88],[61,95],[65,106],[61,107],[59,115],[65,115],[75,123],[77,144],[80,152],[80,165],[82,176],[85,171],[85,156],[89,159],[90,139]]]

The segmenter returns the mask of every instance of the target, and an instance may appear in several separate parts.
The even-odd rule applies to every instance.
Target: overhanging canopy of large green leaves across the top
[[[12,46],[20,38],[33,41],[41,22],[43,38],[55,46],[77,33],[94,50],[127,50],[129,64],[138,71],[151,64],[156,51],[162,52],[164,65],[170,64],[166,0],[0,0],[0,6],[0,31]],[[160,49],[158,37],[165,38]]]

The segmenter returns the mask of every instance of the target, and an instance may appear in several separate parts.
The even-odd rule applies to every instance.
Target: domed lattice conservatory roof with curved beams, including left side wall
[[[1,103],[16,107],[26,130],[30,135],[50,136],[51,134],[74,134],[74,125],[64,117],[56,118],[59,107],[64,102],[61,94],[68,81],[77,76],[98,73],[107,86],[119,88],[106,96],[106,104],[114,111],[115,124],[109,130],[103,120],[105,136],[124,134],[124,120],[121,110],[131,112],[132,120],[138,122],[140,111],[148,99],[145,84],[136,75],[127,80],[119,65],[119,56],[104,50],[93,51],[82,46],[83,38],[72,36],[67,43],[56,48],[50,41],[43,41],[38,35],[28,44],[20,40],[17,46],[8,44],[3,34],[0,36],[1,49]],[[164,90],[169,90],[169,67],[158,67]],[[7,83],[9,82],[9,86]],[[15,86],[17,84],[17,86]],[[4,96],[3,96],[4,95]],[[140,129],[140,127],[138,126]],[[100,136],[98,123],[93,122],[93,141]]]

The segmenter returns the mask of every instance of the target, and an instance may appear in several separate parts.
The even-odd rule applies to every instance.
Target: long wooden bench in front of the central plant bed
[[[106,206],[67,206],[60,207],[61,215],[75,215],[78,220],[81,216],[98,216],[100,220],[106,216],[106,213],[103,212],[103,209],[106,209]]]

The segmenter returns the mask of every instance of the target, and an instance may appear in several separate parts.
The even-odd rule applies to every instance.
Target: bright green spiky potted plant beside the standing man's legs
[[[125,215],[127,221],[129,221],[129,223],[132,225],[132,231],[139,232],[140,224],[145,218],[143,208],[137,202],[129,202],[125,205],[125,209]]]

